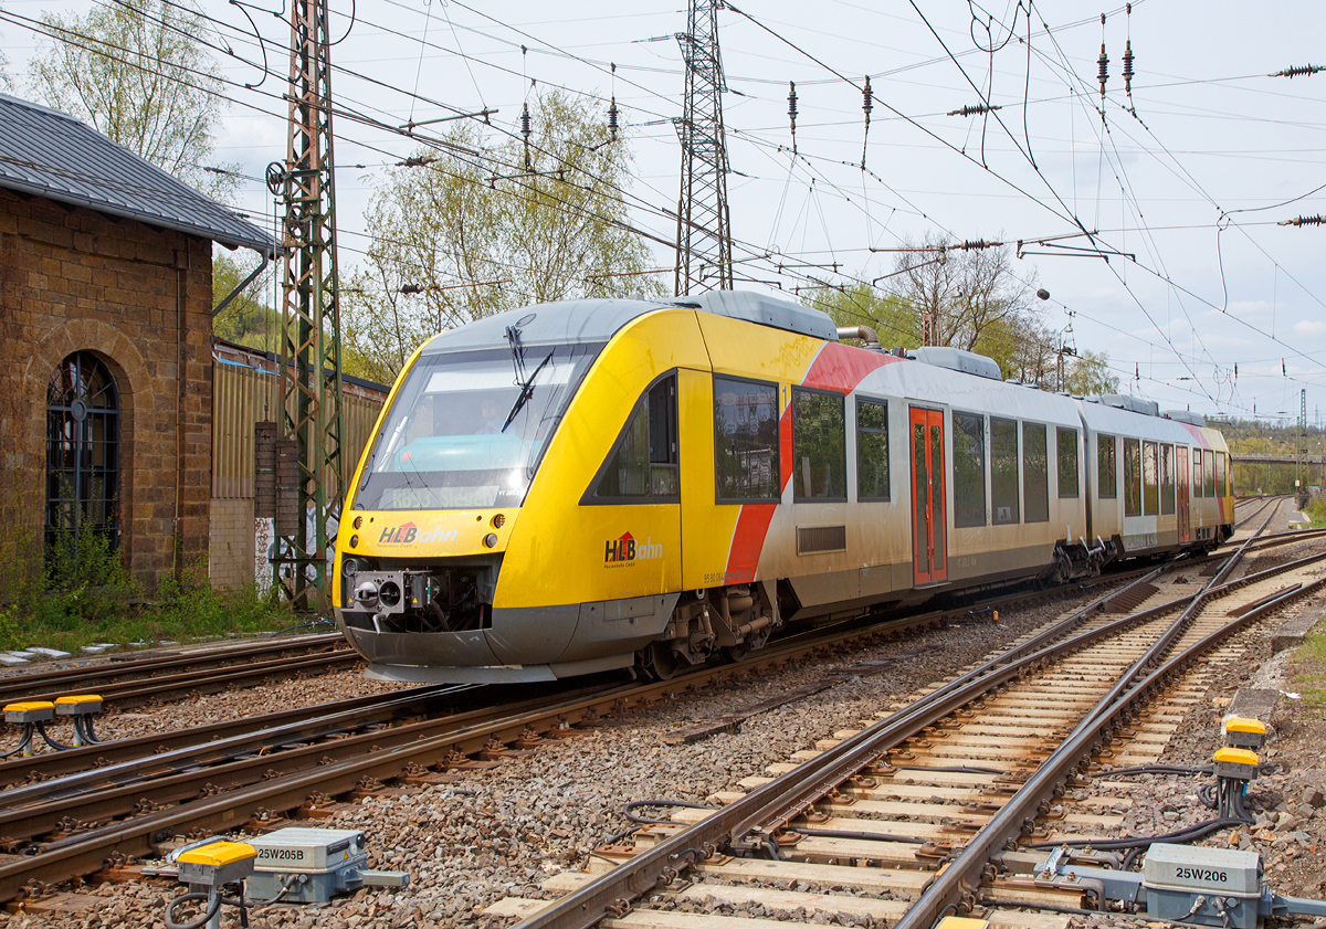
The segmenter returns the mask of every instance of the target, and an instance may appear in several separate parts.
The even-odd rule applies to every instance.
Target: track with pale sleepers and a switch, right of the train
[[[997,868],[1025,871],[1045,852],[1005,846],[1116,826],[1066,803],[1065,786],[1094,762],[1154,761],[1216,668],[1244,652],[1241,631],[1326,586],[1326,554],[1236,576],[1241,566],[1231,558],[1204,584],[1181,571],[1139,579],[1131,614],[1079,611],[711,798],[715,810],[683,807],[631,847],[599,848],[586,872],[545,883],[560,900],[509,897],[487,912],[524,917],[520,929],[768,929],[780,913],[815,912],[930,929],[1010,895],[1044,902]],[[1059,902],[1079,909],[1083,893]],[[768,918],[723,916],[752,905]],[[1048,925],[1012,913],[1001,924]]]

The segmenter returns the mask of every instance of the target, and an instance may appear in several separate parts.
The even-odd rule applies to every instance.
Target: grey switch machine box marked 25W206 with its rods
[[[1146,908],[1148,920],[1221,929],[1254,929],[1269,916],[1326,916],[1326,900],[1282,897],[1261,883],[1261,856],[1235,848],[1154,842],[1142,872],[1074,864],[1055,848],[1036,869],[1045,888],[1090,889],[1126,912]]]

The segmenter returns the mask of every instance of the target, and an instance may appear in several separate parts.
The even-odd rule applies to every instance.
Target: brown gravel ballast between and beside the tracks
[[[1274,531],[1274,526],[1268,531]],[[1284,558],[1284,555],[1281,555]],[[1081,603],[1091,598],[1081,598]],[[1052,620],[1069,602],[1001,611],[1000,623],[975,622],[915,639],[873,647],[845,647],[793,668],[760,672],[715,685],[703,693],[636,708],[607,718],[585,734],[504,759],[485,770],[459,770],[444,785],[386,791],[343,808],[318,826],[363,830],[370,867],[410,871],[404,891],[361,891],[326,908],[269,906],[253,914],[255,926],[476,926],[496,929],[505,918],[480,910],[509,895],[544,896],[548,875],[575,868],[585,853],[627,828],[626,803],[644,798],[691,802],[715,790],[735,789],[744,777],[842,728],[858,728],[896,697],[953,673],[997,647]],[[1318,607],[1319,608],[1319,607]],[[1268,624],[1274,628],[1277,623]],[[1238,667],[1250,677],[1273,667],[1261,633],[1248,640],[1249,660]],[[1265,653],[1265,655],[1264,655]],[[912,657],[879,673],[854,665],[891,655]],[[731,713],[798,686],[841,677],[826,690],[748,720],[736,733],[692,745],[664,745],[662,737]],[[1224,683],[1228,685],[1228,681]],[[235,689],[107,718],[107,736],[129,736],[196,725],[203,720],[252,716],[273,705],[313,705],[325,700],[387,689],[358,672],[337,672],[282,681],[260,689]],[[1219,690],[1219,692],[1216,692]],[[1213,688],[1211,700],[1232,690]],[[1294,708],[1290,708],[1293,710]],[[1215,717],[1215,722],[1212,718]],[[1219,712],[1199,704],[1184,729],[1200,733],[1176,739],[1168,763],[1204,763],[1215,747]],[[1323,785],[1321,765],[1326,722],[1277,713],[1276,734],[1264,759],[1277,765],[1252,791],[1262,824],[1241,830],[1237,842],[1268,856],[1268,875],[1281,893],[1321,896],[1326,861],[1326,812],[1313,806],[1309,789]],[[1139,778],[1139,791],[1118,796],[1132,834],[1172,830],[1209,815],[1196,802],[1199,781]],[[1094,790],[1095,787],[1093,787]],[[1136,799],[1136,798],[1142,799]],[[1306,803],[1305,803],[1306,800]],[[1302,842],[1302,834],[1309,840]],[[1228,836],[1228,834],[1224,834]],[[1225,838],[1228,842],[1228,838]],[[1315,881],[1315,889],[1313,887]],[[78,914],[0,914],[0,926],[162,926],[164,901],[179,885],[105,884],[85,888],[101,900]],[[830,920],[833,921],[833,920]],[[229,921],[224,925],[237,925]]]

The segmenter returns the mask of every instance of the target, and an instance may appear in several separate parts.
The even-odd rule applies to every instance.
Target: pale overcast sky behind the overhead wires
[[[0,11],[25,17],[90,5],[0,0]],[[332,8],[341,34],[351,0]],[[237,5],[206,0],[203,9],[217,21],[203,38],[261,61]],[[285,156],[280,48],[289,27],[273,16],[280,0],[268,3],[273,12],[248,9],[271,42],[271,73],[256,90],[228,87],[235,102],[216,156],[260,178]],[[635,151],[633,219],[672,240],[663,211],[675,209],[678,196],[671,119],[682,113],[675,34],[686,29],[683,7],[358,0],[354,12],[333,49],[333,90],[341,106],[386,125],[487,107],[497,110],[488,131],[511,133],[532,81],[605,106],[615,95]],[[1128,16],[1122,4],[1046,0],[1032,8],[1029,44],[1025,0],[740,0],[719,24],[735,256],[748,260],[739,277],[766,282],[747,286],[878,278],[895,256],[871,248],[924,235],[1024,240],[1029,252],[1061,252],[1016,264],[1050,292],[1048,325],[1071,325],[1079,349],[1107,351],[1124,391],[1166,408],[1235,416],[1256,408],[1261,417],[1293,419],[1306,388],[1310,419],[1326,407],[1326,227],[1276,225],[1326,211],[1326,191],[1313,193],[1326,184],[1326,73],[1268,77],[1326,64],[1326,4],[1143,0]],[[21,78],[33,33],[12,20],[0,33]],[[1110,57],[1103,123],[1102,37]],[[1128,37],[1131,102],[1122,78]],[[219,64],[237,85],[264,78],[236,58]],[[866,74],[875,97],[869,135]],[[798,95],[796,155],[789,81]],[[980,94],[1001,109],[947,115]],[[418,143],[350,119],[335,131],[346,269],[367,244],[362,212],[381,168]],[[272,211],[255,182],[244,182],[235,203]],[[1032,244],[1079,232],[1075,221],[1119,254],[1106,262],[1063,253],[1091,248],[1083,236]],[[655,257],[658,268],[674,260],[662,246]],[[801,266],[780,276],[780,262]]]

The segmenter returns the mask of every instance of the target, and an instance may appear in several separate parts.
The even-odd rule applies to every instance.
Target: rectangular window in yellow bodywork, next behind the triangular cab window
[[[717,502],[778,502],[778,386],[713,375],[713,447]]]

